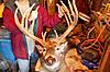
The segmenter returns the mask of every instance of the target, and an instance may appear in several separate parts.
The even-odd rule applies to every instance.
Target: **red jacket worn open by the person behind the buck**
[[[20,19],[21,20],[21,19]],[[58,14],[48,16],[47,11],[40,5],[37,14],[37,37],[41,37],[43,27],[54,27],[59,22]],[[14,15],[10,9],[4,8],[3,11],[3,25],[11,32],[12,50],[16,58],[28,59],[26,43],[24,41],[24,35],[15,26]]]

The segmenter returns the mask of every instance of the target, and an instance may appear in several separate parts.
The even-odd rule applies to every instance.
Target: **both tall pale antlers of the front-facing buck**
[[[75,4],[75,0],[73,0],[73,3],[70,3],[70,1],[68,0],[69,9],[63,3],[63,1],[61,1],[61,2],[62,2],[62,7],[61,5],[58,5],[58,7],[62,10],[62,12],[64,13],[64,16],[68,24],[68,28],[61,37],[58,37],[57,33],[55,32],[55,34],[56,34],[55,40],[57,44],[61,44],[61,41],[64,40],[64,38],[70,33],[72,29],[74,29],[74,27],[76,26],[76,24],[78,22],[78,11],[77,11],[76,4]],[[33,7],[34,7],[34,4],[25,11],[25,13],[22,16],[21,24],[19,22],[18,15],[16,15],[16,13],[18,13],[18,9],[16,9],[15,13],[14,13],[15,24],[20,28],[20,31],[23,32],[25,35],[28,35],[32,39],[38,41],[42,46],[45,46],[46,33],[44,33],[44,35],[42,35],[43,39],[34,36],[34,34],[33,34],[33,27],[34,27],[35,20],[32,20],[31,26],[28,27],[28,17],[29,17],[30,12],[32,11]],[[85,17],[85,16],[82,16],[82,17]],[[86,17],[88,17],[88,16],[86,16]],[[29,31],[29,28],[31,28],[31,32]]]

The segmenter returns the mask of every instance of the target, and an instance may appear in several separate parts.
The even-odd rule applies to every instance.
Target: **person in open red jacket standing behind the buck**
[[[14,22],[14,11],[19,9],[19,20],[22,20],[22,15],[26,9],[29,9],[33,3],[37,3],[36,0],[9,0],[6,2],[4,11],[3,11],[3,25],[8,31],[11,32],[11,40],[12,40],[12,50],[14,56],[16,57],[16,61],[19,63],[20,72],[29,72],[29,59],[32,53],[29,49],[33,46],[32,39],[28,41],[28,37],[20,32]],[[54,27],[61,21],[58,13],[48,16],[46,9],[44,9],[41,4],[37,5],[36,10],[36,27],[34,28],[35,35],[37,37],[42,36],[42,32],[45,27]],[[35,9],[37,8],[35,7]],[[35,15],[35,14],[34,14]],[[29,44],[32,45],[29,45]],[[33,48],[32,48],[33,49]]]

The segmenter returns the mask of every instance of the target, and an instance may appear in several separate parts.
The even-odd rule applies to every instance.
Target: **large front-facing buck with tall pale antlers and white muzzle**
[[[61,72],[61,70],[64,68],[64,65],[66,65],[65,55],[66,55],[66,51],[68,50],[68,46],[67,46],[67,41],[66,41],[65,37],[76,26],[79,14],[78,14],[78,11],[77,11],[76,4],[75,4],[75,0],[73,0],[73,3],[70,3],[70,1],[68,0],[69,9],[62,1],[61,1],[61,3],[62,3],[62,5],[57,4],[57,7],[63,12],[63,14],[66,19],[66,22],[68,24],[68,28],[61,36],[58,36],[57,32],[54,31],[56,37],[48,38],[48,39],[45,39],[47,32],[42,34],[43,38],[38,38],[33,34],[33,26],[34,26],[35,20],[32,20],[31,32],[29,32],[28,14],[30,14],[34,4],[25,11],[21,23],[19,22],[18,15],[16,15],[18,9],[15,10],[14,20],[15,20],[16,26],[20,28],[20,31],[23,34],[28,35],[33,40],[36,40],[41,44],[41,45],[35,45],[42,56],[38,58],[38,61],[35,67],[35,71],[40,71],[40,72],[57,72],[58,71],[58,72]],[[86,16],[85,14],[81,14],[80,16],[85,21],[88,21],[88,20],[86,20],[88,16]],[[78,63],[81,67],[84,67],[82,70],[86,70],[85,65],[81,64],[79,56],[78,55],[76,55],[76,56],[79,59]],[[78,63],[76,65],[78,65]],[[69,72],[69,71],[64,71],[64,72]]]

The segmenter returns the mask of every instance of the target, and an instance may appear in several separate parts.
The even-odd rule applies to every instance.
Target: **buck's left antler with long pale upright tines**
[[[14,20],[15,20],[16,26],[19,27],[19,29],[20,29],[21,32],[23,32],[25,35],[28,35],[28,36],[31,37],[32,39],[37,40],[41,45],[44,46],[43,39],[41,39],[41,38],[34,36],[34,34],[33,34],[33,27],[34,27],[34,21],[35,21],[35,20],[32,20],[31,26],[28,27],[28,17],[29,17],[30,12],[32,11],[32,9],[33,9],[34,5],[35,5],[35,4],[33,4],[31,8],[29,8],[29,9],[25,11],[25,13],[24,13],[23,16],[22,16],[22,22],[21,22],[21,23],[19,22],[18,15],[16,15],[16,13],[18,13],[18,9],[16,9],[16,10],[15,10],[15,13],[14,13]],[[25,21],[25,22],[24,22],[24,21]],[[29,28],[31,28],[31,32],[29,31]]]

